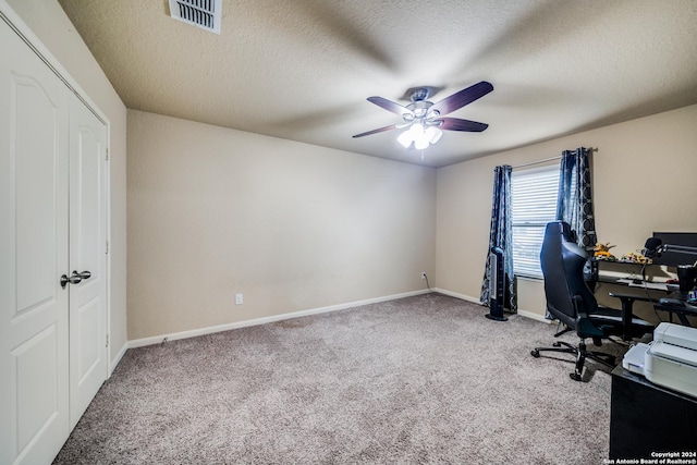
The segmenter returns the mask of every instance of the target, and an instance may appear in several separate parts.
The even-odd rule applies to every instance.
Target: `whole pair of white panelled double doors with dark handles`
[[[107,130],[0,44],[0,464],[48,464],[107,376]]]

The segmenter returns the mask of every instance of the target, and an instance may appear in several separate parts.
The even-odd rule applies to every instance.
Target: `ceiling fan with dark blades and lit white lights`
[[[411,89],[409,100],[412,102],[406,107],[382,97],[368,97],[369,102],[402,117],[404,123],[378,127],[377,130],[356,134],[353,137],[364,137],[408,126],[407,131],[400,134],[398,140],[405,148],[424,149],[429,144],[436,144],[443,135],[443,131],[481,132],[489,126],[476,121],[447,118],[444,115],[489,94],[493,90],[493,86],[490,83],[482,81],[436,103],[427,100],[433,90],[436,90],[433,87]]]

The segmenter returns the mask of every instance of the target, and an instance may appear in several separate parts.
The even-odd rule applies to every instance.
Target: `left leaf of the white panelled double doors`
[[[0,463],[50,463],[69,427],[69,93],[0,21]]]

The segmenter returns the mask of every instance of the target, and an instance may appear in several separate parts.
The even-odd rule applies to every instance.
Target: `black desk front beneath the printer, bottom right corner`
[[[653,384],[622,365],[611,376],[611,460],[652,458],[651,452],[697,453],[697,397]]]

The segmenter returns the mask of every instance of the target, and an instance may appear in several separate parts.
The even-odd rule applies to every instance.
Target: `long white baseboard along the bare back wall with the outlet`
[[[270,323],[270,322],[288,320],[288,319],[291,319],[291,318],[306,317],[306,316],[309,316],[309,315],[326,314],[326,313],[329,313],[329,311],[337,311],[337,310],[345,310],[347,308],[360,307],[363,305],[368,305],[368,304],[377,304],[379,302],[394,301],[396,298],[404,298],[404,297],[411,297],[411,296],[414,296],[414,295],[428,294],[429,292],[436,292],[436,290],[424,289],[424,290],[419,290],[419,291],[405,292],[405,293],[402,293],[402,294],[393,294],[393,295],[387,295],[387,296],[383,296],[383,297],[367,298],[365,301],[350,302],[350,303],[346,303],[346,304],[330,305],[328,307],[319,307],[319,308],[311,308],[311,309],[307,309],[307,310],[291,311],[289,314],[272,315],[270,317],[255,318],[255,319],[252,319],[252,320],[236,321],[236,322],[232,322],[232,323],[218,325],[218,326],[215,326],[215,327],[198,328],[198,329],[194,329],[194,330],[189,330],[189,331],[181,331],[181,332],[174,332],[174,333],[170,333],[170,334],[160,334],[160,335],[152,335],[152,336],[149,336],[149,338],[135,339],[133,341],[129,341],[127,342],[127,348],[135,348],[135,347],[143,347],[145,345],[159,344],[162,341],[164,341],[166,339],[168,341],[175,341],[178,339],[195,338],[197,335],[212,334],[212,333],[216,333],[216,332],[229,331],[229,330],[232,330],[232,329],[246,328],[246,327],[257,326],[257,325],[266,325],[266,323]],[[117,364],[118,364],[118,362],[117,362]],[[114,368],[115,368],[117,364],[113,365]]]

